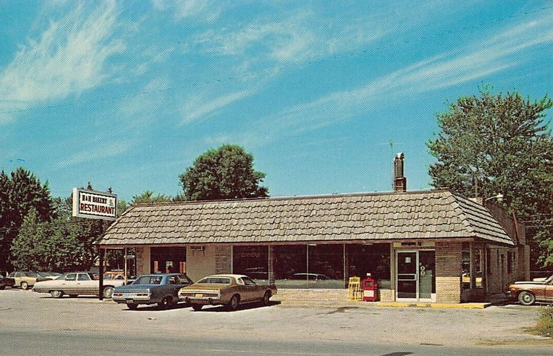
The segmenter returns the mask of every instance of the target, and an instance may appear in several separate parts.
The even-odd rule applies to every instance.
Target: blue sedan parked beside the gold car
[[[139,304],[158,304],[165,309],[173,303],[178,303],[180,288],[191,285],[191,279],[182,273],[144,274],[132,284],[115,288],[111,299],[117,303],[135,310]]]

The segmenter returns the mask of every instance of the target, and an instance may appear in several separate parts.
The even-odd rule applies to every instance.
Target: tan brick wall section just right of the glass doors
[[[435,244],[436,301],[460,303],[461,301],[461,243],[437,242]]]

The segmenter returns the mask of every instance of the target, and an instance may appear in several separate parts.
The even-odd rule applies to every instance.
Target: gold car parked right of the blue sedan
[[[209,304],[224,305],[236,310],[239,303],[262,301],[268,305],[270,297],[277,293],[274,284],[258,284],[243,274],[215,274],[180,288],[180,299],[191,303],[194,310]]]

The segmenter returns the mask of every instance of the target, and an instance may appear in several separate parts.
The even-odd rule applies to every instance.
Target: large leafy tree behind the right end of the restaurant
[[[503,206],[531,222],[527,236],[532,262],[553,264],[553,141],[544,121],[547,97],[531,101],[519,93],[460,97],[438,113],[438,137],[427,145],[437,159],[429,174],[434,187],[469,197],[501,193]]]

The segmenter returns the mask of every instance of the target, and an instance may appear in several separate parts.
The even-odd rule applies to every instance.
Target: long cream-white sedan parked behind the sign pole
[[[111,298],[113,288],[123,285],[123,280],[104,280],[102,295]],[[94,279],[90,272],[68,272],[58,279],[35,283],[32,290],[39,293],[50,293],[54,298],[61,298],[64,294],[77,297],[79,294],[99,295],[100,281]]]

